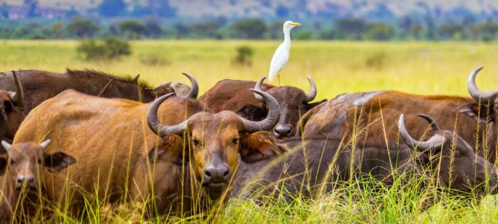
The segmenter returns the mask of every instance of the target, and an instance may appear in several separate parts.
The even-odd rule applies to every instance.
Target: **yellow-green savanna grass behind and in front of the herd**
[[[134,41],[132,54],[116,61],[86,61],[76,52],[77,41],[0,42],[0,71],[37,69],[64,72],[65,68],[94,68],[111,74],[140,74],[152,86],[166,81],[189,83],[187,72],[199,82],[200,94],[222,79],[256,81],[267,75],[277,41]],[[253,49],[250,65],[235,62],[236,49]],[[281,72],[281,85],[309,90],[311,76],[318,87],[316,100],[343,93],[397,90],[421,95],[468,97],[467,78],[478,66],[482,90],[498,88],[498,44],[484,42],[321,42],[293,41],[289,61]],[[274,85],[278,82],[274,80]],[[353,181],[321,197],[231,199],[206,213],[160,217],[157,223],[496,223],[498,197],[464,199],[415,183],[360,187]],[[433,206],[427,207],[427,201]],[[93,204],[81,220],[55,211],[50,223],[142,223],[139,207],[108,208]]]

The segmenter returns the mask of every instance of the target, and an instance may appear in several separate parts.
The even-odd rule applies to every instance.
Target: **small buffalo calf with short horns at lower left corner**
[[[14,215],[29,219],[42,203],[43,167],[60,172],[76,159],[64,152],[45,153],[50,140],[40,144],[10,145],[6,141],[1,144],[7,154],[0,156],[0,223],[12,222]]]

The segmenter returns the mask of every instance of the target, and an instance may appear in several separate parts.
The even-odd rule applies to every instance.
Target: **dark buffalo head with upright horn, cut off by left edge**
[[[12,71],[14,91],[0,90],[0,141],[11,142],[24,119],[24,94],[17,74]],[[2,81],[3,82],[3,81]],[[0,147],[1,149],[1,147]],[[1,151],[1,150],[0,150]]]

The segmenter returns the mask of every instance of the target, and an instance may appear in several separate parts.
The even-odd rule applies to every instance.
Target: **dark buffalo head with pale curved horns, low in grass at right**
[[[489,187],[496,189],[497,172],[493,163],[476,155],[474,149],[453,131],[441,130],[434,120],[419,114],[431,123],[434,135],[427,141],[413,139],[404,125],[404,116],[399,116],[399,134],[406,145],[426,155],[426,162],[443,186],[462,192],[481,192]]]

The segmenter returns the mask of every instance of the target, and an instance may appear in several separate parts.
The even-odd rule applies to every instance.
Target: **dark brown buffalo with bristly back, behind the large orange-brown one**
[[[23,70],[17,71],[16,74],[20,82],[14,72],[0,73],[0,90],[16,91],[15,93],[17,93],[0,91],[0,101],[3,102],[0,105],[2,116],[0,138],[3,137],[7,141],[11,141],[8,139],[13,138],[24,119],[24,115],[27,115],[43,101],[67,89],[104,98],[123,98],[145,103],[153,101],[158,94],[164,95],[175,90],[184,94],[187,92],[186,90],[190,90],[187,85],[177,82],[164,83],[154,90],[146,84],[138,82],[138,76],[135,78],[118,77],[89,69],[81,71],[67,69],[66,73],[63,74]],[[24,97],[21,83],[24,87]],[[194,80],[192,89],[187,96],[195,98],[197,92],[198,86]],[[15,100],[12,100],[12,97],[15,97]]]

